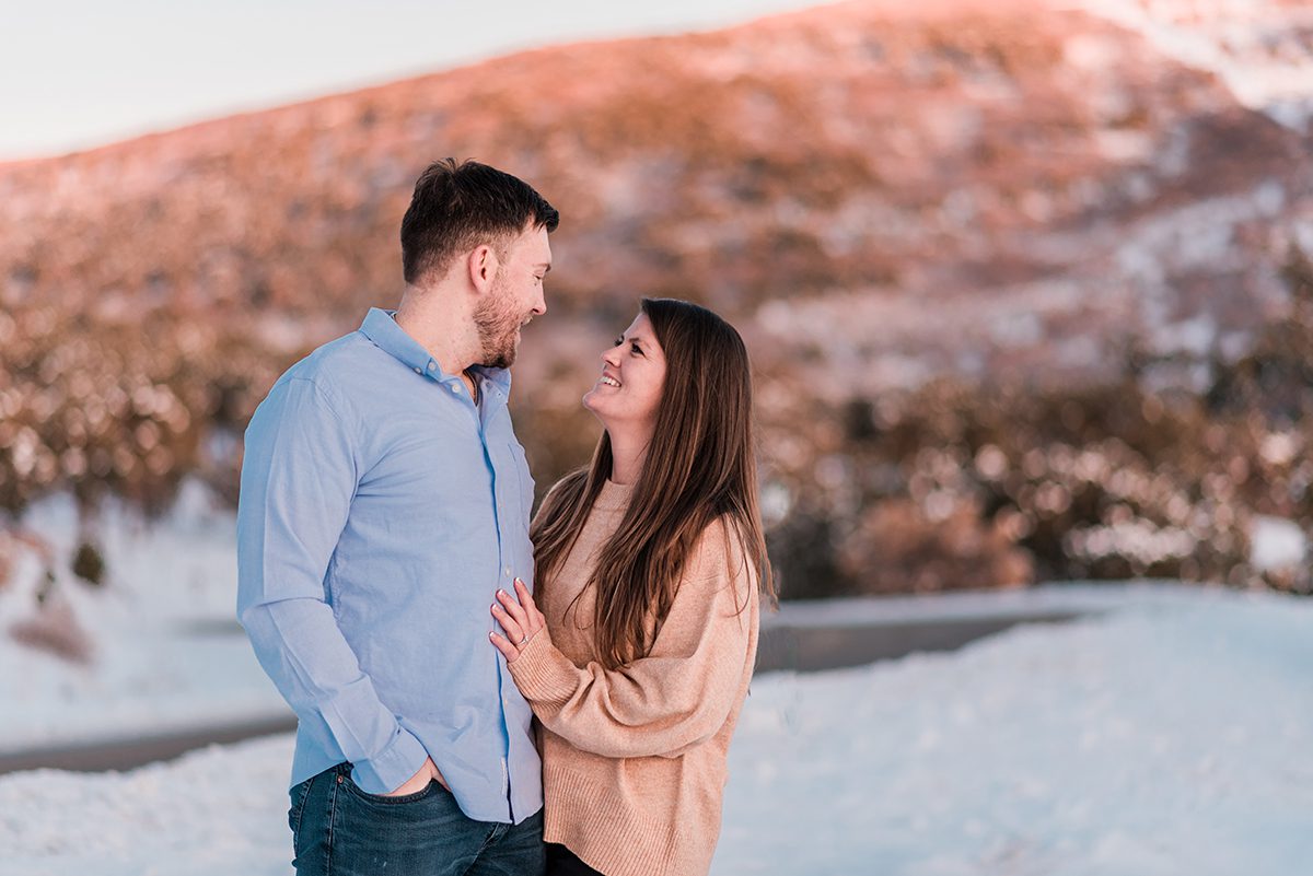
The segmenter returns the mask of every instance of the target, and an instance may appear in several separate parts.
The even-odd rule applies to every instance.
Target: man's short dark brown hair
[[[503,252],[530,222],[553,232],[561,214],[529,184],[478,161],[435,161],[415,182],[402,219],[406,282],[445,274],[453,258],[482,244]]]

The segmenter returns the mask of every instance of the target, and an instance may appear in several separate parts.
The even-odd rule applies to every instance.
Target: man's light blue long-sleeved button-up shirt
[[[238,618],[297,712],[295,786],[343,761],[366,792],[432,757],[461,809],[542,808],[532,712],[488,643],[498,587],[533,584],[533,480],[511,376],[458,375],[370,309],[294,365],[246,433]]]

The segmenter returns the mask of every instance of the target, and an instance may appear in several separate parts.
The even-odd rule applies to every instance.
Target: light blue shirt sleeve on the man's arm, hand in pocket
[[[328,728],[364,791],[389,793],[428,754],[379,700],[324,590],[357,481],[352,431],[323,391],[276,384],[246,433],[238,619],[298,717]]]

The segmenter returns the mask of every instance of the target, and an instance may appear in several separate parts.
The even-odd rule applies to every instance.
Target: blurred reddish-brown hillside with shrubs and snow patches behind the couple
[[[562,211],[516,368],[540,488],[592,443],[604,340],[675,295],[754,353],[786,594],[1304,589],[1249,542],[1313,525],[1313,90],[1236,71],[1305,70],[1313,24],[1088,5],[844,3],[0,165],[0,506],[234,498],[255,404],[397,300],[411,185],[454,155]]]

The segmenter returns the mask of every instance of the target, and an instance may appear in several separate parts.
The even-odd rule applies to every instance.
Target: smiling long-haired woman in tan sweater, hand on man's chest
[[[499,593],[491,639],[541,724],[548,873],[695,876],[773,597],[751,370],[733,327],[672,299],[601,359],[592,463],[533,522],[537,603]]]

